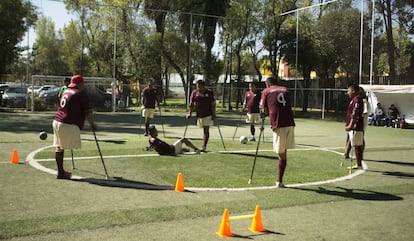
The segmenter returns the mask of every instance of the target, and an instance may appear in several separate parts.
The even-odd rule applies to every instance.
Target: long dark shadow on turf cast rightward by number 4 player
[[[318,189],[310,189],[310,188],[303,188],[303,187],[292,187],[292,189],[302,190],[302,191],[311,191],[316,192],[318,194],[325,194],[325,195],[333,195],[345,198],[352,198],[356,200],[369,200],[369,201],[399,201],[403,200],[402,197],[383,193],[383,192],[376,192],[364,189],[348,189],[343,187],[334,187],[334,190],[329,190],[323,187],[318,187]]]

